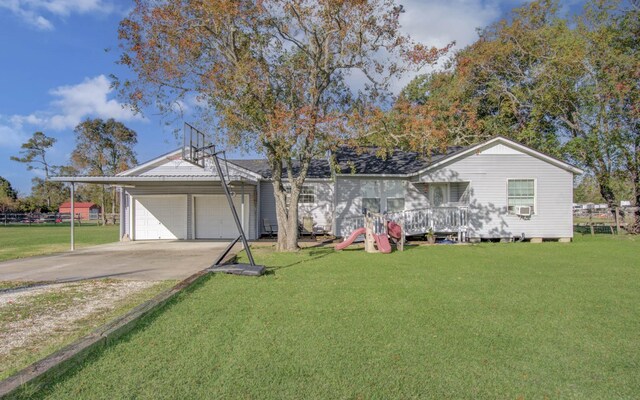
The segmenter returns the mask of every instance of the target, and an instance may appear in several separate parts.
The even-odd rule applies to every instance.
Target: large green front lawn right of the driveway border
[[[37,397],[637,398],[639,245],[258,250]]]

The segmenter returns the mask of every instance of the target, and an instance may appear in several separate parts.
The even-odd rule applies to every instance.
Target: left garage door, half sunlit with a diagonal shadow
[[[140,196],[134,213],[135,240],[187,238],[187,196]]]

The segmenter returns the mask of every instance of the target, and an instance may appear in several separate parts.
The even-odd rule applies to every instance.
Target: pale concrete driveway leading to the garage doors
[[[0,281],[184,279],[211,266],[228,242],[118,242],[0,263]],[[240,249],[236,245],[234,250]]]

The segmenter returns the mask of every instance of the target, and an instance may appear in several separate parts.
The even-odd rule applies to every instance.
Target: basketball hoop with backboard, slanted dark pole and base
[[[222,167],[220,166],[220,155],[224,157],[226,177],[223,173]],[[227,201],[229,202],[229,208],[231,209],[233,220],[236,223],[238,232],[240,232],[240,235],[233,241],[231,241],[231,243],[229,243],[227,248],[215,259],[211,267],[207,268],[207,270],[214,273],[226,273],[234,275],[260,276],[264,274],[266,268],[264,265],[256,265],[253,259],[253,254],[251,254],[251,248],[249,248],[249,244],[247,242],[247,237],[245,236],[244,230],[242,229],[240,218],[238,218],[238,212],[235,205],[233,204],[233,198],[231,195],[231,191],[229,190],[229,184],[227,183],[227,179],[230,180],[230,175],[226,152],[224,150],[217,151],[214,144],[206,143],[204,133],[185,122],[183,132],[182,159],[200,168],[205,168],[205,161],[207,159],[211,159],[213,161],[216,172],[220,177],[222,189],[224,190],[224,194],[227,197]],[[239,240],[242,241],[244,250],[247,253],[247,257],[249,258],[249,264],[221,264],[224,258],[227,256],[227,254],[229,254],[233,246],[235,246]]]

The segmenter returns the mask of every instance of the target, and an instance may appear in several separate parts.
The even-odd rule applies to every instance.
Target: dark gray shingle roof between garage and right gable
[[[434,152],[430,157],[412,151],[394,150],[386,157],[378,157],[376,148],[364,148],[356,151],[350,147],[340,147],[333,155],[337,164],[337,172],[342,174],[373,174],[373,175],[406,175],[416,173],[429,164],[454,153],[464,150],[466,147],[451,146],[444,152]],[[229,160],[242,168],[271,178],[271,168],[267,160]],[[285,169],[286,171],[286,169]],[[294,165],[294,175],[299,168]],[[286,173],[286,172],[285,172]],[[328,160],[313,160],[309,168],[308,178],[330,178],[331,167]]]

